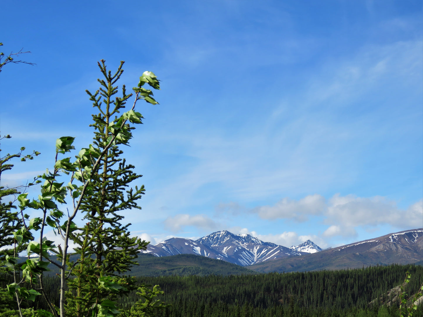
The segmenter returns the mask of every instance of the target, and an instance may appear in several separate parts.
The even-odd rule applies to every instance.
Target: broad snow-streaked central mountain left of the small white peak
[[[242,266],[307,254],[275,243],[263,242],[251,235],[235,235],[227,230],[213,232],[198,240],[171,238],[155,246],[149,244],[142,252],[157,257],[198,254]]]

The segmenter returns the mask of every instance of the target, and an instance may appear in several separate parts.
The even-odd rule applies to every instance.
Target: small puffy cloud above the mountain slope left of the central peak
[[[193,226],[201,229],[214,230],[218,227],[217,223],[214,222],[206,215],[194,215],[179,214],[174,217],[168,217],[165,221],[165,228],[172,232],[180,232],[184,227]]]

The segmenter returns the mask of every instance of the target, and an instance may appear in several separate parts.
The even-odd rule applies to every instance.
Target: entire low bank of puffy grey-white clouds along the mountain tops
[[[318,235],[298,235],[296,232],[285,231],[281,234],[259,234],[247,228],[231,227],[219,221],[222,213],[226,215],[242,216],[253,214],[260,219],[273,221],[285,219],[303,223],[314,221],[326,227]],[[333,195],[325,199],[319,194],[308,195],[302,199],[294,200],[283,198],[275,205],[264,205],[254,208],[240,206],[236,202],[220,203],[216,207],[214,217],[204,214],[191,216],[178,214],[168,217],[165,227],[174,234],[183,232],[186,227],[196,227],[201,230],[228,229],[234,233],[248,233],[263,241],[277,243],[283,246],[297,245],[305,240],[313,240],[322,247],[327,247],[326,238],[341,236],[344,238],[357,237],[357,228],[371,228],[378,225],[390,225],[393,228],[414,228],[421,224],[423,219],[423,199],[410,205],[407,210],[401,210],[396,203],[386,197],[357,197],[355,195]]]

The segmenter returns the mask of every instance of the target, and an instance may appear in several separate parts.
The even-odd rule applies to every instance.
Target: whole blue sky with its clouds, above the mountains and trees
[[[22,1],[4,7],[1,51],[36,66],[0,75],[2,149],[42,153],[2,183],[54,162],[55,139],[91,142],[105,59],[120,85],[145,70],[127,161],[143,174],[131,232],[152,243],[217,230],[284,246],[338,246],[423,227],[420,1]],[[36,189],[30,191],[36,195]],[[51,233],[50,233],[51,234]]]

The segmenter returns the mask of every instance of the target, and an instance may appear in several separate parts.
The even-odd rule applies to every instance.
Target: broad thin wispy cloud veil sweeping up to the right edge
[[[177,122],[190,124],[170,126],[171,132],[151,131],[143,139],[177,149],[178,155],[190,159],[190,164],[160,184],[157,203],[152,203],[158,208],[166,202],[176,211],[207,203],[212,196],[204,194],[206,186],[216,186],[233,201],[253,202],[280,193],[297,196],[362,181],[363,162],[370,157],[366,153],[383,140],[405,137],[405,132],[393,122],[381,121],[376,111],[380,106],[363,115],[354,110],[356,103],[373,96],[371,92],[385,82],[404,79],[414,82],[410,87],[417,89],[421,74],[415,70],[421,68],[421,49],[420,41],[372,45],[349,60],[327,62],[299,91],[282,93],[270,115],[259,118],[254,129],[242,125],[229,133],[227,127],[222,131],[220,126],[208,126],[201,119],[192,122],[179,114]],[[391,104],[385,106],[384,113],[391,108],[398,112]],[[344,116],[344,111],[352,116]],[[407,113],[398,116],[407,117]],[[184,195],[175,188],[183,188]]]

